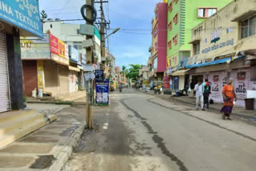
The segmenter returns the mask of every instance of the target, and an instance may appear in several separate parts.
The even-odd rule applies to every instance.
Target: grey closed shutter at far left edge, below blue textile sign
[[[10,110],[6,34],[0,33],[0,113]]]

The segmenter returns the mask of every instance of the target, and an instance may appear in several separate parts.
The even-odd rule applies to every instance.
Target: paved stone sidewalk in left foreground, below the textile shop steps
[[[0,171],[57,171],[66,163],[85,128],[86,109],[50,105],[47,112],[47,105],[30,107],[45,114],[55,113],[57,121],[0,149]]]

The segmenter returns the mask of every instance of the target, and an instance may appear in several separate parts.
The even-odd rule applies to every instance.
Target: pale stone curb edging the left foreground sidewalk
[[[43,171],[58,171],[62,170],[62,167],[69,160],[74,147],[78,144],[80,137],[84,129],[86,128],[86,123],[82,123],[78,129],[72,133],[72,135],[68,138],[68,140],[61,146],[61,150],[58,152],[56,159],[53,165],[50,165],[50,168],[43,169]]]

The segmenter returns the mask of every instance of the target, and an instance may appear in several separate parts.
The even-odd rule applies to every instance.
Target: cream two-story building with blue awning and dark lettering
[[[248,90],[256,90],[255,9],[255,1],[230,2],[191,32],[190,82],[208,78],[214,101],[222,101],[228,78],[234,79],[238,105],[245,105]]]

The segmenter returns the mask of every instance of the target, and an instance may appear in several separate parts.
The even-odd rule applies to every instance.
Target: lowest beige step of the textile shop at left
[[[34,121],[30,125],[26,125],[22,129],[16,129],[11,133],[8,133],[4,136],[0,137],[0,148],[9,145],[11,142],[18,140],[25,135],[34,132],[35,130],[41,128],[42,126],[46,125],[46,121],[44,119],[40,119],[38,121]]]

